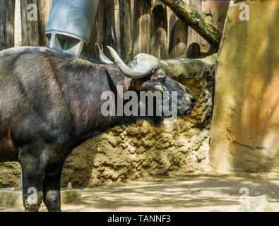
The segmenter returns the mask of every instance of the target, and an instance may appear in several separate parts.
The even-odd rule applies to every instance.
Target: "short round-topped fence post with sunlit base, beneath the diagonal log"
[[[174,17],[171,21],[169,56],[170,58],[186,57],[188,26],[176,16]]]

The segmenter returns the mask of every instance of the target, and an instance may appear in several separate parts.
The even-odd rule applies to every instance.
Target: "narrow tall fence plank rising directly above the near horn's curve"
[[[129,60],[133,56],[131,1],[119,1],[119,27],[120,27],[120,52],[121,59]]]

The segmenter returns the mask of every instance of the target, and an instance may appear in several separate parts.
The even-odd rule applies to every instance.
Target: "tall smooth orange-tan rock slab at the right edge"
[[[249,20],[239,19],[248,4]],[[210,162],[268,172],[279,162],[279,1],[230,5],[215,76]]]

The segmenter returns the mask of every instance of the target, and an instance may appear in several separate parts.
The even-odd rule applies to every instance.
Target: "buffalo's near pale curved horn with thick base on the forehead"
[[[107,46],[115,64],[119,67],[120,71],[124,73],[128,78],[143,78],[148,76],[150,73],[160,66],[160,61],[150,54],[138,54],[134,59],[136,59],[137,66],[134,69],[126,66],[124,61],[121,60],[117,52],[112,49],[112,47]]]

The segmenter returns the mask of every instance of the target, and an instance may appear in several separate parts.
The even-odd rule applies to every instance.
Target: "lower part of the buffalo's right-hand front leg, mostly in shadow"
[[[60,166],[61,168],[56,174],[46,174],[44,176],[44,205],[47,206],[47,210],[49,210],[49,212],[61,211],[60,179],[62,166]]]

